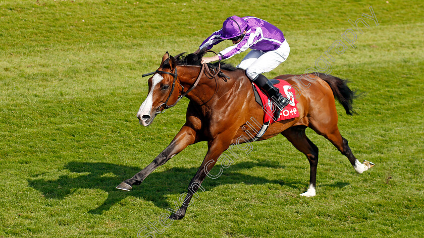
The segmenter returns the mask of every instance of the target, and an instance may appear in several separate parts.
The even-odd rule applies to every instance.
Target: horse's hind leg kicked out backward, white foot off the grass
[[[350,164],[358,174],[362,174],[364,171],[374,166],[374,164],[369,161],[364,160],[363,163],[360,163],[357,160],[357,158],[353,155],[352,150],[350,150],[347,139],[343,138],[343,136],[340,134],[339,128],[337,127],[337,122],[318,126],[314,123],[311,123],[309,124],[309,127],[312,128],[316,133],[323,135],[325,138],[330,140],[330,142],[333,143],[333,145],[336,146],[336,148],[349,159]]]

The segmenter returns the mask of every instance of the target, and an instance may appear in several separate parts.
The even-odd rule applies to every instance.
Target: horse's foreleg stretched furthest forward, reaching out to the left
[[[127,179],[116,188],[129,191],[133,185],[141,184],[143,180],[153,172],[157,167],[165,164],[170,158],[181,152],[190,144],[198,142],[196,131],[187,125],[184,125],[180,132],[174,137],[171,143],[142,171],[138,172],[131,179]]]

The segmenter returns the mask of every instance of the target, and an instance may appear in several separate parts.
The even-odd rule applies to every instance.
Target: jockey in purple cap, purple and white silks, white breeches
[[[237,68],[245,69],[249,80],[268,93],[277,105],[274,115],[279,118],[280,112],[289,104],[290,100],[283,97],[279,90],[261,73],[273,70],[289,56],[290,47],[283,32],[259,18],[232,16],[224,21],[222,29],[204,40],[194,53],[209,50],[224,40],[231,40],[234,45],[213,57],[203,57],[201,63],[228,59],[251,48],[252,50],[237,65]]]

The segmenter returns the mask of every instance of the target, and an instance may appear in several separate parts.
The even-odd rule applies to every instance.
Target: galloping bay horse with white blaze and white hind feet
[[[189,183],[188,192],[181,201],[178,211],[169,217],[181,219],[184,217],[193,194],[201,187],[201,183],[214,167],[220,156],[232,144],[239,144],[241,136],[250,137],[254,130],[246,130],[246,122],[255,118],[263,123],[264,111],[255,101],[252,83],[242,69],[236,69],[229,64],[223,64],[221,69],[216,64],[201,65],[204,52],[199,54],[179,54],[170,56],[167,52],[160,67],[148,80],[148,95],[142,103],[137,117],[139,123],[148,126],[155,116],[174,106],[183,96],[190,102],[186,112],[186,122],[171,141],[142,171],[125,180],[116,188],[129,191],[133,185],[143,180],[157,167],[164,165],[170,158],[190,144],[207,141],[207,153],[196,175]],[[215,76],[203,72],[203,67],[215,68],[225,76]],[[215,70],[212,70],[215,73]],[[312,73],[313,74],[313,73]],[[352,101],[355,92],[349,89],[347,81],[323,73],[301,75],[280,75],[278,80],[285,80],[292,87],[301,89],[296,95],[299,116],[271,124],[268,130],[258,139],[266,140],[278,134],[285,136],[299,151],[304,153],[310,164],[309,187],[302,196],[315,196],[316,167],[318,164],[318,148],[305,134],[307,127],[323,135],[348,159],[357,173],[371,168],[374,164],[364,161],[360,163],[349,148],[348,141],[342,137],[337,126],[337,99],[352,115]],[[307,84],[304,88],[300,84]],[[173,104],[169,106],[169,104]],[[260,124],[262,125],[262,124]],[[256,128],[257,130],[258,128]],[[241,141],[248,142],[248,141]],[[221,162],[222,163],[222,162]],[[196,194],[197,196],[197,194]]]

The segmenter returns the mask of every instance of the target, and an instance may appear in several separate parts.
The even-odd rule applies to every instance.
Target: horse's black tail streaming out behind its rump
[[[333,91],[334,98],[339,101],[339,103],[346,110],[347,115],[353,115],[356,113],[352,110],[353,99],[357,98],[356,90],[352,91],[347,86],[349,81],[342,80],[339,77],[333,75],[326,75],[325,73],[318,73],[318,76],[322,78],[330,86]]]

